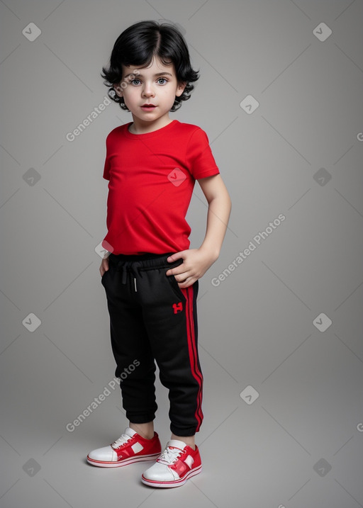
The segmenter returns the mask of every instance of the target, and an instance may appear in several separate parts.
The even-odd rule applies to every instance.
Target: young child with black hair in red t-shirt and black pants
[[[218,259],[230,197],[206,133],[169,118],[199,79],[174,26],[155,21],[130,26],[103,71],[111,98],[133,116],[106,139],[108,233],[102,246],[109,255],[100,266],[129,424],[87,461],[113,468],[157,459],[141,480],[178,487],[201,472],[194,442],[203,419],[196,296],[198,279]],[[185,216],[196,179],[208,201],[207,228],[201,247],[189,249]],[[153,427],[155,361],[170,402],[172,436],[162,453]]]

